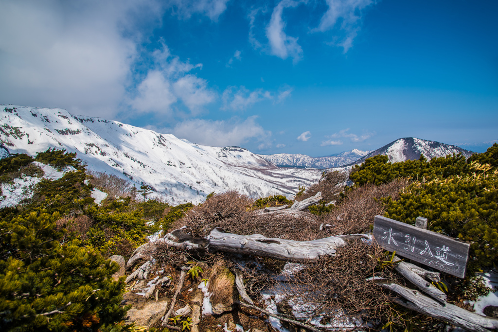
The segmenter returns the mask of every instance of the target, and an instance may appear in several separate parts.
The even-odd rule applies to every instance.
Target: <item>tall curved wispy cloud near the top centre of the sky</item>
[[[297,43],[297,38],[288,36],[284,32],[285,21],[282,18],[284,8],[295,7],[300,1],[282,0],[271,14],[270,22],[266,26],[266,37],[270,43],[271,54],[278,56],[282,59],[287,59],[289,56],[292,58],[293,63],[301,60],[303,50]]]

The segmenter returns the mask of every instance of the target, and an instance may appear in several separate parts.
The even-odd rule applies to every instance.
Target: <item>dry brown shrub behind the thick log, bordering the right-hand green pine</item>
[[[385,212],[381,199],[391,196],[396,200],[399,191],[409,184],[408,180],[397,179],[380,186],[371,184],[350,190],[337,209],[324,217],[323,222],[330,225],[326,236],[370,231],[373,218]]]

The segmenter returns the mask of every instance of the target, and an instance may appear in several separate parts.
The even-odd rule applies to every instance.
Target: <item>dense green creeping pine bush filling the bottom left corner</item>
[[[59,217],[0,221],[0,330],[122,331],[124,281],[111,278],[118,265],[77,239],[61,243]]]

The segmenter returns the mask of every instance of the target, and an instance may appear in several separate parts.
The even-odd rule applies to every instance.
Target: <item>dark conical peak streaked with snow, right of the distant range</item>
[[[474,152],[462,149],[455,145],[428,141],[415,137],[399,138],[395,141],[376,149],[363,158],[358,159],[354,164],[361,164],[370,157],[378,154],[383,154],[389,157],[391,163],[396,163],[406,160],[416,160],[423,154],[428,160],[434,157],[444,157],[448,154],[461,153],[466,158],[470,157]]]

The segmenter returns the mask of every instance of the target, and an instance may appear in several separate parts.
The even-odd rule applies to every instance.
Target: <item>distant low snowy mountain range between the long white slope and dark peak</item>
[[[312,168],[332,168],[348,165],[365,156],[371,151],[353,149],[325,157],[310,157],[305,154],[258,154],[261,158],[281,167],[312,167]]]

